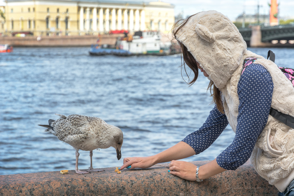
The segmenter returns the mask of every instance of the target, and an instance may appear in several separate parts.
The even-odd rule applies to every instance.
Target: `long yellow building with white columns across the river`
[[[113,30],[171,30],[174,6],[160,0],[138,3],[110,0],[6,0],[0,33],[84,35]],[[1,16],[0,16],[1,18]]]

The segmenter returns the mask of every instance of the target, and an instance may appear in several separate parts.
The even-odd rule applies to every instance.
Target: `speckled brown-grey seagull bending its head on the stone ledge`
[[[52,133],[59,140],[68,143],[76,150],[76,173],[85,174],[89,172],[99,172],[92,167],[93,150],[113,147],[116,149],[117,160],[121,158],[121,145],[123,144],[123,132],[120,128],[107,124],[97,117],[89,117],[78,114],[69,116],[59,115],[58,120],[48,120],[49,125],[46,132]],[[78,170],[78,150],[90,151],[90,167],[84,172]]]

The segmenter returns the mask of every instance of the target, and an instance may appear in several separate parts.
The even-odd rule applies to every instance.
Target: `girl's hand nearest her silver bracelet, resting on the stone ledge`
[[[197,166],[193,163],[189,163],[186,161],[171,161],[168,165],[169,172],[173,175],[181,177],[186,180],[194,181],[196,180],[196,169]]]

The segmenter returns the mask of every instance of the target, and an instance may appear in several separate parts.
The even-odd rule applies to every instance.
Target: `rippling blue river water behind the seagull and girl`
[[[249,48],[266,57],[270,48]],[[93,167],[119,167],[124,157],[149,156],[197,130],[213,108],[200,73],[191,87],[173,56],[89,56],[88,47],[14,48],[0,55],[0,175],[73,170],[75,150],[38,124],[63,115],[96,116],[123,131],[114,148],[93,151]],[[294,67],[294,48],[272,48],[279,66]],[[193,74],[192,74],[193,75]],[[228,126],[203,153],[213,160],[233,141]],[[89,167],[80,150],[79,169]]]

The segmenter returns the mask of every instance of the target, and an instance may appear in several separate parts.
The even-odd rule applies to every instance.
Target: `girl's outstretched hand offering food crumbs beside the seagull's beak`
[[[123,166],[119,168],[122,170],[123,168],[127,167],[128,169],[133,169],[136,167],[139,168],[148,168],[152,165],[155,165],[155,159],[153,156],[150,157],[128,157],[123,159]],[[131,166],[131,167],[129,167]]]

